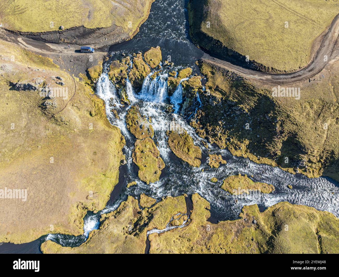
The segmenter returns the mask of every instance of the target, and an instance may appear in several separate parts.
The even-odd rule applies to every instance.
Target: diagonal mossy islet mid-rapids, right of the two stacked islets
[[[199,167],[201,164],[201,149],[195,146],[193,138],[186,131],[178,133],[167,131],[168,145],[173,153],[189,165]]]

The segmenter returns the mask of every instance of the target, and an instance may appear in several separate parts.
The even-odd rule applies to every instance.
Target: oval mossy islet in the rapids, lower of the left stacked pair
[[[165,167],[158,148],[149,137],[135,142],[133,162],[139,167],[140,180],[147,184],[159,181],[161,170]]]

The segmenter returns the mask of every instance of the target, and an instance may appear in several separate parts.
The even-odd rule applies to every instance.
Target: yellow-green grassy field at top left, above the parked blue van
[[[0,4],[3,27],[22,32],[46,32],[85,26],[110,27],[134,33],[148,17],[152,0],[4,0]]]

